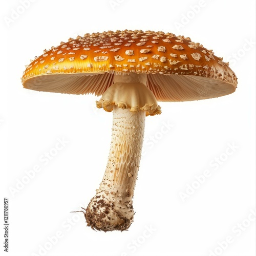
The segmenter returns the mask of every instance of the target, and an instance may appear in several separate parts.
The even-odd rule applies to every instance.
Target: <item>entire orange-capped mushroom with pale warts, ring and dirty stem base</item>
[[[145,116],[157,101],[190,101],[233,93],[237,77],[211,50],[172,33],[124,30],[85,34],[36,57],[22,77],[27,89],[102,95],[113,111],[111,149],[104,177],[84,214],[93,229],[127,230]]]

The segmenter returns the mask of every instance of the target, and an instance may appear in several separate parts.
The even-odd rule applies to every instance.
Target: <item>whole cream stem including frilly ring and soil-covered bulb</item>
[[[98,108],[113,110],[113,128],[105,174],[85,214],[93,229],[122,231],[133,222],[145,116],[161,113],[146,83],[146,74],[115,74],[115,83],[96,101]]]

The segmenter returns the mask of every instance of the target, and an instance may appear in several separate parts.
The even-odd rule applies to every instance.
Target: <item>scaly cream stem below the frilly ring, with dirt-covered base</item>
[[[112,139],[104,177],[86,209],[88,226],[127,230],[133,222],[132,198],[137,179],[145,126],[145,111],[114,106]]]

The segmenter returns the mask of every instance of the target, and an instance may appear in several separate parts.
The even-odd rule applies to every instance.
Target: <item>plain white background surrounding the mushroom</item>
[[[254,0],[4,0],[0,26],[5,255],[255,255]],[[29,91],[20,77],[60,41],[117,29],[189,36],[229,61],[239,84],[221,98],[160,102],[162,114],[146,118],[134,223],[104,233],[70,211],[87,207],[102,179],[112,114],[95,108],[99,97]],[[58,139],[65,146],[47,162]]]

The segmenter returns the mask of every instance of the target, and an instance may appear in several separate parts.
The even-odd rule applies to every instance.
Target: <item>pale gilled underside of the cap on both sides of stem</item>
[[[139,75],[139,74],[138,74]],[[222,80],[191,75],[147,74],[146,86],[157,101],[192,101],[215,98],[236,91],[236,87]],[[30,78],[24,87],[35,91],[95,94],[101,96],[115,80],[114,73],[56,74]]]

